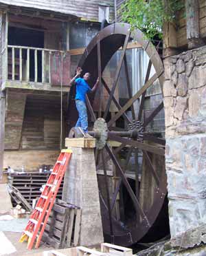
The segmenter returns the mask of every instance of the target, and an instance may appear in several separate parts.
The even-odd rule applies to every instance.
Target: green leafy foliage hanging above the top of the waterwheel
[[[148,39],[154,36],[162,38],[163,23],[174,21],[175,14],[183,8],[183,1],[169,0],[127,0],[122,5],[122,19],[130,23],[132,28],[139,28]]]

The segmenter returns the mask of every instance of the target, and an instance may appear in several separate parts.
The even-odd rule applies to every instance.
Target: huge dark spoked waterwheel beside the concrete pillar
[[[135,93],[131,89],[126,59],[126,47],[131,39],[137,41],[150,58],[145,83]],[[115,78],[112,83],[108,83],[102,74],[118,50],[119,63]],[[126,76],[124,85],[118,83],[122,65]],[[147,118],[143,118],[143,111],[147,90],[155,85],[162,88],[163,63],[154,45],[144,38],[141,31],[131,32],[130,25],[115,23],[93,38],[84,51],[79,66],[83,72],[92,74],[91,82],[94,83],[100,78],[99,91],[94,98],[87,98],[87,107],[90,134],[97,138],[96,166],[98,170],[103,170],[103,175],[98,175],[98,183],[104,237],[108,242],[128,246],[142,240],[151,232],[157,233],[157,220],[162,221],[159,215],[165,205],[167,193],[165,140],[161,134],[148,132],[147,127],[163,109],[163,102]],[[150,75],[152,66],[155,72]],[[128,90],[125,104],[120,104],[115,94],[118,86],[125,86]],[[135,107],[137,101],[138,108]],[[113,114],[110,111],[111,105],[116,109]],[[78,134],[75,129],[73,131],[73,134]],[[122,152],[123,160],[119,156]],[[126,174],[130,171],[131,158],[135,159],[132,180]],[[114,171],[108,176],[111,165]]]

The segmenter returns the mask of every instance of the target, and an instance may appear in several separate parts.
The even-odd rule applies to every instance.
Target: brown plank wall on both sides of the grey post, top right
[[[201,37],[206,37],[206,0],[199,0],[199,25]],[[178,14],[176,30],[177,47],[187,45],[185,8]]]

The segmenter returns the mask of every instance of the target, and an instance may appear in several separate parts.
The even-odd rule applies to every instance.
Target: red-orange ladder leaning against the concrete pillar
[[[65,175],[71,154],[71,149],[62,149],[58,160],[54,165],[54,169],[47,180],[47,184],[41,193],[41,197],[39,198],[32,215],[30,216],[30,220],[25,227],[25,231],[23,231],[23,234],[21,235],[19,242],[27,241],[27,248],[30,250],[34,245],[35,239],[35,248],[38,248],[41,242],[49,214],[52,211],[52,206],[54,205],[62,178]]]

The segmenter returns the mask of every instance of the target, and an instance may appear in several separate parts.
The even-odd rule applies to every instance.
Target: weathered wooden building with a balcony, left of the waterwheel
[[[113,22],[113,0],[0,1],[0,169],[54,164],[67,136],[69,79],[105,18]]]

